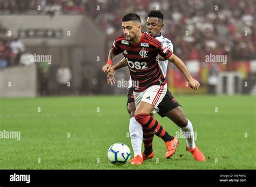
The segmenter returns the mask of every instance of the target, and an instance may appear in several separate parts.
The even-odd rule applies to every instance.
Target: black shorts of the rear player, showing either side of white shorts
[[[128,103],[134,102],[134,96],[133,96],[133,89],[129,89],[127,94],[127,105]],[[126,105],[126,106],[127,106]],[[172,96],[172,93],[167,89],[167,92],[161,101],[161,103],[158,105],[157,113],[162,118],[165,117],[165,113],[169,112],[170,110],[176,108],[177,106],[181,106],[177,100]]]

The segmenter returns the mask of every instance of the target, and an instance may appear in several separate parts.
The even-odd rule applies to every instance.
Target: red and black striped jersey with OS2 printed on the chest
[[[142,33],[142,39],[136,45],[125,40],[125,36],[122,34],[114,40],[112,52],[114,55],[123,53],[125,56],[132,81],[138,82],[135,91],[141,92],[151,85],[166,83],[157,56],[159,54],[165,59],[169,59],[172,51],[149,34]]]

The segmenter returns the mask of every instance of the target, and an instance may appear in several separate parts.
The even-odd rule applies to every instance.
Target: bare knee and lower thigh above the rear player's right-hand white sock
[[[181,128],[187,126],[187,118],[180,106],[166,112],[165,116]]]

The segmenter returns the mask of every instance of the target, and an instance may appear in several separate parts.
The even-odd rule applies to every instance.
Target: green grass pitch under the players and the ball
[[[165,145],[155,136],[152,160],[111,164],[113,143],[132,150],[126,96],[1,98],[0,131],[21,131],[21,140],[0,139],[0,169],[255,169],[255,97],[176,98],[197,132],[204,163],[186,152],[182,138],[172,159],[165,159]],[[179,132],[169,119],[156,119],[170,134]]]

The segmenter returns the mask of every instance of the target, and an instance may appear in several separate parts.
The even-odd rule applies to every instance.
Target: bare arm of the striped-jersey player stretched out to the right
[[[186,78],[188,85],[190,86],[190,88],[197,90],[199,89],[199,82],[197,80],[195,80],[190,73],[188,72],[185,64],[183,63],[182,60],[180,60],[180,58],[174,54],[172,54],[169,59],[170,62],[172,62],[174,64],[174,66],[176,66],[180,72],[184,75],[184,77]]]

